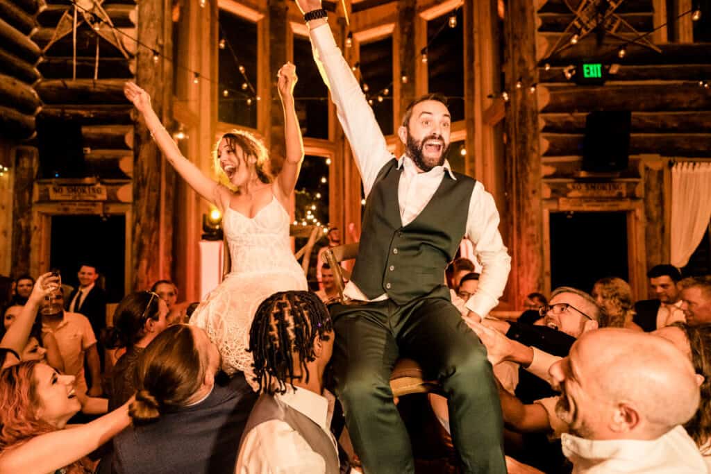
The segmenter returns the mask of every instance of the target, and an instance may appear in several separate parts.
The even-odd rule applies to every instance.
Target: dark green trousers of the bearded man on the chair
[[[346,426],[365,473],[414,473],[405,424],[392,401],[399,357],[441,382],[452,441],[466,473],[506,473],[503,421],[486,348],[439,287],[398,306],[390,300],[331,306],[333,371]]]

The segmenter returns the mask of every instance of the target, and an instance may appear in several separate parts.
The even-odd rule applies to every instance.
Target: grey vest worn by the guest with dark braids
[[[262,394],[257,400],[250,414],[250,419],[247,420],[245,431],[242,433],[240,446],[247,438],[247,433],[257,425],[272,420],[284,421],[294,431],[298,432],[304,438],[304,441],[311,446],[311,450],[319,454],[321,458],[324,458],[326,474],[338,474],[340,472],[338,451],[336,451],[336,446],[333,444],[331,437],[308,416],[296,411],[287,404],[278,402],[272,395]]]

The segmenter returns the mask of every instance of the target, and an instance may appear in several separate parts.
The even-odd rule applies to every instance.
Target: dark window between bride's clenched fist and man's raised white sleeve
[[[328,139],[328,87],[316,68],[309,38],[294,35],[294,64],[299,76],[294,99],[301,133],[306,138]]]

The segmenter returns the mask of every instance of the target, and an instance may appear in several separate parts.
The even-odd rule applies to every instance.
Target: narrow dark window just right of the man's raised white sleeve
[[[384,135],[392,135],[392,36],[360,45],[360,82]]]

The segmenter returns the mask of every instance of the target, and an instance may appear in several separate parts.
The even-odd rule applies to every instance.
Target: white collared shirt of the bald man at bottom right
[[[561,436],[563,454],[573,474],[699,474],[707,473],[699,449],[682,426],[651,441],[592,440]]]

